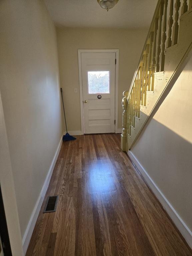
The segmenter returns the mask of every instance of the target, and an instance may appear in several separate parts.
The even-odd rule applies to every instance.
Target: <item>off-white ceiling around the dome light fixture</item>
[[[58,26],[95,28],[149,27],[157,0],[119,0],[108,12],[97,0],[44,0]]]

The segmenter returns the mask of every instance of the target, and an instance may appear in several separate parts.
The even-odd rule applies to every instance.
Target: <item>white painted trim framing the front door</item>
[[[82,83],[82,66],[81,53],[115,53],[115,133],[118,131],[118,82],[119,82],[119,49],[78,49],[79,65],[79,92],[80,92],[80,110],[81,110],[81,133],[84,134],[83,122],[83,83]]]

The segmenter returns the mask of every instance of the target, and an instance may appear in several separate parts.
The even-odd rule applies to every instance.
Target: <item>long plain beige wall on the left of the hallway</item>
[[[62,136],[56,32],[41,0],[1,1],[0,15],[0,90],[23,236]]]

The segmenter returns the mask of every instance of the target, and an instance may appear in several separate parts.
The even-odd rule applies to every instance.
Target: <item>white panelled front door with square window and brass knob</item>
[[[115,53],[81,53],[84,133],[115,132]]]

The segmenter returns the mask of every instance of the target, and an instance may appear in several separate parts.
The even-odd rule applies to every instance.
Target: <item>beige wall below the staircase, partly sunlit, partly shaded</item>
[[[192,58],[131,149],[192,230]]]

